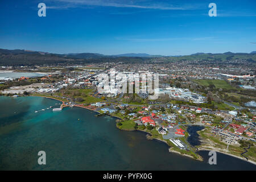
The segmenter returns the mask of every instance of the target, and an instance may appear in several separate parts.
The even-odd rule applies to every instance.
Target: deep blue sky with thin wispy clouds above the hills
[[[46,4],[46,17],[38,4]],[[217,5],[210,17],[209,3]],[[0,48],[105,55],[256,51],[256,1],[0,1]]]

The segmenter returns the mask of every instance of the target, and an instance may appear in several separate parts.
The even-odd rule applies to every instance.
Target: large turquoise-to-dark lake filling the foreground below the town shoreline
[[[115,118],[94,117],[82,108],[52,109],[60,104],[42,97],[0,97],[0,169],[2,170],[216,170],[251,169],[253,164],[217,154],[217,165],[168,152],[139,131],[121,131]],[[78,120],[80,119],[80,121]],[[38,152],[46,151],[46,165]]]

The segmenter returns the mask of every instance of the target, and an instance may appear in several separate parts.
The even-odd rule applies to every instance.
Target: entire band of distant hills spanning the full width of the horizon
[[[162,60],[155,59],[163,57]],[[0,49],[0,65],[35,65],[35,64],[77,64],[94,62],[123,62],[138,63],[147,61],[152,63],[159,61],[183,61],[183,60],[204,60],[204,61],[227,61],[242,59],[256,62],[256,51],[251,53],[203,53],[198,52],[186,56],[160,56],[147,53],[125,53],[121,55],[102,55],[100,53],[68,53],[57,54],[42,51],[28,51],[24,49]]]

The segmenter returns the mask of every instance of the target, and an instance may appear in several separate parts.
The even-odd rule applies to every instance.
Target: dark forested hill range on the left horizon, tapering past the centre
[[[68,53],[57,54],[40,51],[26,51],[24,49],[0,49],[0,65],[73,65],[97,62],[123,62],[138,63],[146,61],[148,57],[115,57],[102,55],[100,53]]]

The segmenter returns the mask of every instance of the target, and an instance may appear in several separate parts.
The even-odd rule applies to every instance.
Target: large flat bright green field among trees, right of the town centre
[[[224,80],[193,80],[199,85],[209,86],[210,84],[215,85],[215,88],[222,88],[222,89],[234,89],[233,86],[229,85]]]

